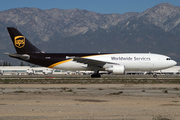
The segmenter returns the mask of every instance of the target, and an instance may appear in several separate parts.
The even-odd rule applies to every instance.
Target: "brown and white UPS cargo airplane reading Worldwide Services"
[[[7,29],[17,53],[5,54],[52,69],[90,70],[94,71],[91,77],[101,77],[99,71],[124,74],[125,71],[155,71],[176,65],[168,56],[151,53],[45,53],[33,46],[18,29]]]

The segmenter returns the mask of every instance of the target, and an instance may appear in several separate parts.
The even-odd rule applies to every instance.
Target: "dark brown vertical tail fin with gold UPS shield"
[[[7,30],[18,54],[43,53],[33,46],[15,27],[7,27]]]

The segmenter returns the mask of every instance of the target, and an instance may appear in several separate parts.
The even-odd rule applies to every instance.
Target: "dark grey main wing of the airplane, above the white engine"
[[[100,68],[103,68],[103,66],[105,66],[106,64],[116,64],[116,63],[104,62],[104,61],[93,60],[93,59],[88,59],[88,58],[81,58],[81,57],[74,57],[73,61],[88,64],[88,66],[96,66],[96,67],[100,67]]]

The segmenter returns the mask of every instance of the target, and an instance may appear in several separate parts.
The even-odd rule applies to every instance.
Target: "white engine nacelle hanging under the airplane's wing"
[[[125,66],[124,65],[113,65],[105,69],[108,72],[113,74],[124,74],[125,73]]]

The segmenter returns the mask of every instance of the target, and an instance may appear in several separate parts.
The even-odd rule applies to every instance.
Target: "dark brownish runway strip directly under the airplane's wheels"
[[[0,84],[180,84],[179,75],[1,75]]]

